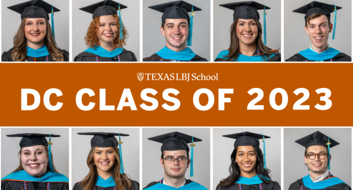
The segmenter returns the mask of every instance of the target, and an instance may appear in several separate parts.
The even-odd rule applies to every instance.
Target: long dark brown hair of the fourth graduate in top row
[[[230,44],[229,44],[229,54],[225,56],[227,59],[224,61],[237,61],[239,54],[240,54],[240,48],[239,48],[239,39],[236,34],[236,25],[238,23],[239,19],[236,19],[233,21],[232,25],[230,26]],[[263,44],[262,42],[262,26],[261,23],[257,20],[254,19],[257,25],[257,37],[255,39],[256,45],[259,48],[260,55],[263,61],[266,61],[266,59],[270,59],[270,55],[273,53],[276,53],[277,51],[271,50],[271,48],[267,47],[266,45]],[[271,60],[271,59],[270,59]]]

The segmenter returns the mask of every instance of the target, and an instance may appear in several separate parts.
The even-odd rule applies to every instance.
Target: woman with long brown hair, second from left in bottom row
[[[73,190],[139,190],[140,184],[131,180],[124,171],[120,136],[123,133],[85,132],[94,135],[87,157],[90,169],[87,176],[74,185]],[[119,136],[119,142],[115,138]],[[119,148],[118,148],[119,146]]]

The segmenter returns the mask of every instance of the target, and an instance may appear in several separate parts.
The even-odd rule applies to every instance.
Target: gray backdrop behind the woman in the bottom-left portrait
[[[10,174],[20,163],[21,137],[7,137],[18,133],[45,133],[61,135],[53,137],[51,152],[54,166],[59,173],[69,178],[69,128],[1,128],[1,178]],[[49,142],[49,137],[46,137]]]

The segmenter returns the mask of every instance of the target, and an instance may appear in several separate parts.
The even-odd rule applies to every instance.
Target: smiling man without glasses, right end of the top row
[[[286,62],[351,62],[352,58],[328,45],[329,33],[335,36],[334,26],[330,21],[331,13],[342,7],[312,1],[293,12],[305,14],[305,32],[311,41],[310,48],[305,49],[286,60]],[[336,18],[335,18],[336,19]]]

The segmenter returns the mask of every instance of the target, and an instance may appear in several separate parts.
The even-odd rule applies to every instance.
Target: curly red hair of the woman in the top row
[[[114,39],[114,42],[113,42],[114,46],[124,47],[124,45],[126,45],[126,40],[128,38],[128,35],[127,35],[128,32],[126,30],[126,27],[123,24],[123,39],[120,39],[119,34],[122,27],[119,24],[119,16],[118,15],[112,15],[112,16],[115,18],[115,21],[117,22],[117,26],[118,26],[118,31],[117,31],[118,36]],[[87,47],[94,48],[96,45],[100,45],[98,40],[98,35],[97,35],[98,27],[101,24],[100,18],[101,16],[94,18],[91,24],[88,26],[87,34],[84,39],[86,41]]]

